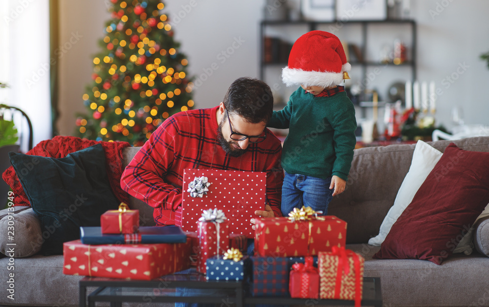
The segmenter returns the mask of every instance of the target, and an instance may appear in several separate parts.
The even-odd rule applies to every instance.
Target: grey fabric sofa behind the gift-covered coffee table
[[[489,152],[489,137],[453,142],[465,150]],[[449,143],[430,144],[443,151]],[[365,257],[365,276],[381,278],[384,306],[489,306],[489,258],[475,250],[470,256],[450,256],[442,265],[423,260],[372,259],[379,247],[367,242],[378,234],[409,170],[414,148],[412,144],[357,149],[347,189],[333,199],[329,214],[348,222],[347,248]],[[126,163],[137,150],[125,149]],[[140,210],[142,224],[154,224],[151,207],[134,198],[130,207]],[[488,219],[479,220],[476,227],[475,245],[484,251],[489,245]],[[15,258],[15,301],[7,298],[5,285],[12,272],[7,270],[8,263],[9,258],[0,259],[0,305],[78,306],[78,281],[82,277],[62,273],[63,256]]]

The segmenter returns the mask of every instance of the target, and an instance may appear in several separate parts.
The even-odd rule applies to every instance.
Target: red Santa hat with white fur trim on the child
[[[340,85],[352,66],[346,61],[340,40],[325,31],[308,32],[295,41],[282,80],[291,85],[331,87]]]

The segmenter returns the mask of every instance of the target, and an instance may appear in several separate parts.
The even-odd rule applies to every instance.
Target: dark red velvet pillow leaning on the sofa
[[[489,153],[450,143],[374,258],[441,264],[488,202]]]

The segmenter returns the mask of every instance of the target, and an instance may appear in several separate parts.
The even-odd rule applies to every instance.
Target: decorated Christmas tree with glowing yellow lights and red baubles
[[[159,0],[111,0],[77,135],[141,146],[169,116],[193,107],[188,61]]]

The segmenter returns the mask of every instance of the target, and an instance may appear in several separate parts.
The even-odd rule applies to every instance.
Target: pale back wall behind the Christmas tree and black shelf
[[[60,59],[62,117],[59,127],[62,134],[73,132],[75,110],[85,110],[81,97],[91,81],[91,55],[99,50],[96,41],[102,37],[104,22],[109,18],[105,9],[107,2],[61,1],[60,43],[68,40],[72,32],[83,35]],[[202,85],[194,92],[197,108],[216,106],[234,79],[258,77],[259,22],[263,19],[265,0],[164,2],[165,12],[170,17],[179,17],[174,18],[172,24],[175,38],[188,56],[189,72],[196,80],[202,80]],[[489,125],[489,69],[479,59],[480,54],[489,51],[489,1],[411,2],[412,16],[418,22],[418,80],[433,80],[443,91],[437,100],[437,122],[448,128],[453,126],[450,111],[459,105],[467,123]],[[430,15],[430,10],[438,10],[439,15]],[[232,54],[223,57],[222,52],[226,50]],[[461,64],[467,66],[462,74],[457,73]],[[218,68],[213,70],[216,65]],[[458,79],[453,84],[447,83],[446,76],[452,74]],[[407,79],[400,77],[397,70],[385,69],[375,80],[378,84],[373,85],[385,95],[390,83],[399,78]],[[280,81],[278,75],[276,80],[271,83]]]

